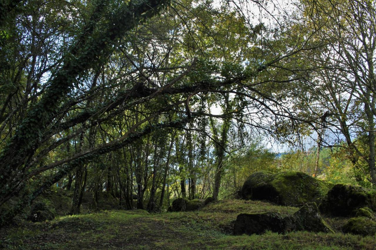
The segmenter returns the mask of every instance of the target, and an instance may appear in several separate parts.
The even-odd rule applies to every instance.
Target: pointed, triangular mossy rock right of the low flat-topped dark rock
[[[292,216],[285,218],[286,231],[333,232],[321,218],[315,202],[306,203]]]

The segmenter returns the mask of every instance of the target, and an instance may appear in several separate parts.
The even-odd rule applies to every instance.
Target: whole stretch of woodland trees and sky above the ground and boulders
[[[267,170],[374,188],[374,0],[1,0],[0,225],[164,212]],[[87,198],[89,197],[89,198]],[[86,210],[85,210],[86,211]]]

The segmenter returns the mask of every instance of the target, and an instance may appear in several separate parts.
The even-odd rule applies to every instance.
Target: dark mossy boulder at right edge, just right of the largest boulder
[[[335,184],[319,206],[322,213],[332,216],[355,215],[363,207],[376,210],[376,190],[351,184]]]

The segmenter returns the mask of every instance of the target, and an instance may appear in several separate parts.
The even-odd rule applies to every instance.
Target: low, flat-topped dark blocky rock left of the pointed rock
[[[260,214],[239,214],[236,218],[234,235],[261,234],[266,230],[284,232],[284,221],[279,213],[264,212]]]

